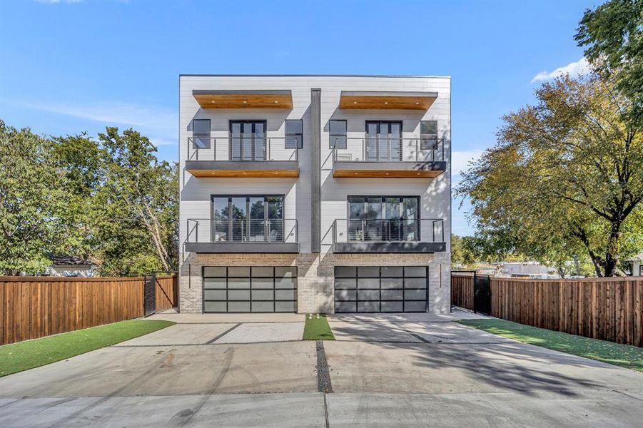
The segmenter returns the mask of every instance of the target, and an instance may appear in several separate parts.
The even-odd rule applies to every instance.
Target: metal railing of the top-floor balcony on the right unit
[[[437,137],[334,137],[333,161],[444,162],[445,140]]]

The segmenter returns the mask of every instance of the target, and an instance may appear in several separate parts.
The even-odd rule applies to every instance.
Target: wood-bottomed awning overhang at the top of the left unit
[[[194,90],[192,96],[201,108],[293,108],[293,93],[289,89]]]

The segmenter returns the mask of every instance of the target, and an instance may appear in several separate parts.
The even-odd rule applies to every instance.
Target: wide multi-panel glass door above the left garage
[[[283,196],[213,196],[213,242],[283,242]]]

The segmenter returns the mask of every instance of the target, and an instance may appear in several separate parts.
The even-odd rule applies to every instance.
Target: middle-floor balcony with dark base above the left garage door
[[[188,218],[188,253],[299,253],[297,220]]]

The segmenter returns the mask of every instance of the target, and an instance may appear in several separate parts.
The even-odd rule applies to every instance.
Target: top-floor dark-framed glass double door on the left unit
[[[230,122],[231,161],[265,161],[265,121]]]

